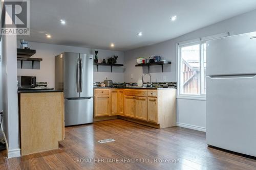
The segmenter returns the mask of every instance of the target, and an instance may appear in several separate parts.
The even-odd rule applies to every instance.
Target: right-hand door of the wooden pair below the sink
[[[135,97],[135,118],[147,120],[147,98]]]

